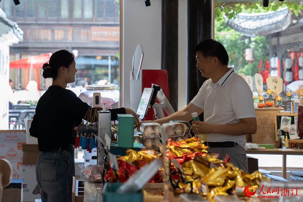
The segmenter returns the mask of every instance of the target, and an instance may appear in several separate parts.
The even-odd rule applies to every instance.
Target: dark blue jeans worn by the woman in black
[[[75,176],[74,149],[42,151],[37,161],[36,179],[42,202],[72,202]]]

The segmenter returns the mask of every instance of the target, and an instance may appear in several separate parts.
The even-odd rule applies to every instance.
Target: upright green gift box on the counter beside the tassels
[[[119,147],[133,147],[134,117],[132,114],[117,114],[117,134]]]

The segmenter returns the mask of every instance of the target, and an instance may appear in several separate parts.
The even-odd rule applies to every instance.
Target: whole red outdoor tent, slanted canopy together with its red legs
[[[45,53],[42,55],[35,55],[30,58],[23,58],[20,60],[14,60],[9,62],[9,68],[24,68],[24,90],[26,90],[26,86],[31,78],[30,70],[33,68],[35,73],[35,81],[37,82],[38,91],[40,88],[40,78],[39,78],[39,68],[42,68],[43,64],[49,61],[52,53]]]

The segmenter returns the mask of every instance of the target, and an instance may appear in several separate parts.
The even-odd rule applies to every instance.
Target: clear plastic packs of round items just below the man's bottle
[[[182,122],[182,123],[181,123]],[[185,139],[184,135],[187,131],[190,131],[190,124],[186,124],[186,121],[170,122],[162,124],[162,133],[168,138],[173,137],[173,141],[179,141]],[[189,130],[187,130],[189,127]],[[188,132],[189,133],[189,132]]]

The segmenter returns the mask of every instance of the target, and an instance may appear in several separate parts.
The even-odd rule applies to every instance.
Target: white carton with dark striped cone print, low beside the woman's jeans
[[[19,178],[23,179],[23,201],[32,202],[41,198],[36,176],[19,176]]]

